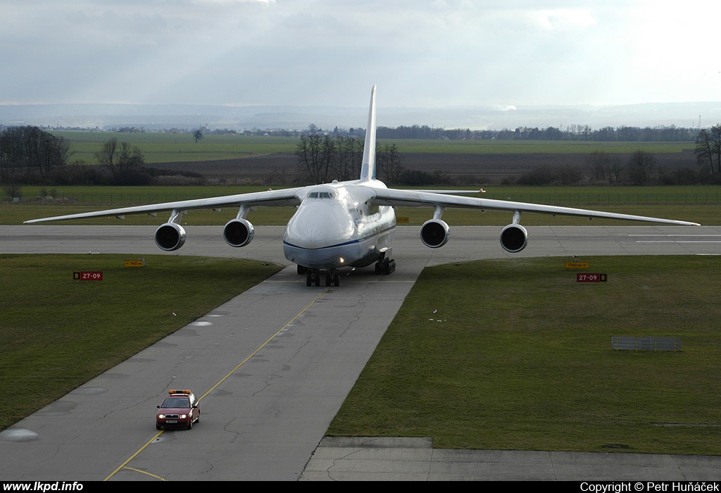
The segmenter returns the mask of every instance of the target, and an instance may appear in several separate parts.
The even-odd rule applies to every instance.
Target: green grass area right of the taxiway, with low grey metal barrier
[[[721,454],[721,257],[588,260],[607,283],[557,258],[424,270],[329,435]],[[682,350],[616,352],[613,336]]]

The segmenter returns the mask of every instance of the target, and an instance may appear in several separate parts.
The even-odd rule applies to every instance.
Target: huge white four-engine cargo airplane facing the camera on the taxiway
[[[252,223],[247,219],[252,208],[293,206],[297,210],[288,221],[283,235],[283,253],[298,266],[298,274],[306,275],[306,285],[309,286],[319,286],[323,272],[325,285],[339,285],[338,272],[344,267],[368,267],[375,263],[376,273],[393,272],[395,260],[392,259],[392,241],[396,231],[394,208],[398,206],[433,208],[433,217],[420,227],[420,241],[430,248],[445,245],[451,236],[450,226],[442,219],[446,208],[507,210],[513,213],[512,222],[500,233],[500,244],[510,253],[521,252],[528,244],[528,232],[521,226],[521,213],[526,212],[699,226],[698,223],[687,221],[454,195],[457,193],[465,192],[397,190],[386,187],[384,182],[376,179],[376,86],[373,86],[361,175],[357,180],[334,180],[331,183],[284,190],[99,210],[32,219],[25,223],[98,216],[123,218],[126,214],[155,215],[170,211],[168,221],[156,229],[155,243],[160,249],[172,252],[185,244],[185,228],[180,226],[180,220],[187,210],[239,207],[236,218],[224,226],[223,237],[230,246],[241,247],[249,244],[255,234]]]

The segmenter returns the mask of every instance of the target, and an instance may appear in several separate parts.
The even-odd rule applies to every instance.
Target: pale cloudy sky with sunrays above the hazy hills
[[[717,0],[0,0],[0,104],[721,101]]]

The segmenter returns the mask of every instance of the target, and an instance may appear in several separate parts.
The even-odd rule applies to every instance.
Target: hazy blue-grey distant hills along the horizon
[[[146,130],[207,127],[250,130],[324,130],[366,126],[364,107],[209,106],[209,105],[0,105],[0,125]],[[570,125],[603,127],[708,127],[721,123],[721,102],[645,103],[623,106],[528,107],[379,107],[378,124],[386,127],[428,125],[472,130]]]

